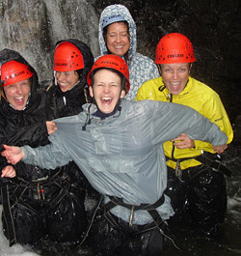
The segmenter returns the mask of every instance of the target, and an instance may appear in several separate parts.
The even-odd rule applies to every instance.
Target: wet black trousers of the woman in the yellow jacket
[[[227,212],[227,189],[224,174],[204,165],[182,171],[181,179],[168,167],[165,191],[171,198],[174,216],[171,226],[188,225],[203,235],[214,236],[220,231]]]

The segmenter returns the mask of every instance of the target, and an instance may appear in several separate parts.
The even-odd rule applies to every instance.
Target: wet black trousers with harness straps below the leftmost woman
[[[42,189],[44,199],[38,197],[36,186],[24,187],[20,198],[11,189],[13,225],[8,226],[7,211],[3,211],[5,236],[13,240],[9,238],[9,230],[13,228],[14,242],[22,244],[34,244],[42,238],[53,242],[79,242],[87,226],[84,200],[55,183],[44,185]]]

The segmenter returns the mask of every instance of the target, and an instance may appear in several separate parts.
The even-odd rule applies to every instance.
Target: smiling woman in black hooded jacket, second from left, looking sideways
[[[79,40],[67,39],[56,43],[54,51],[54,78],[42,81],[48,100],[48,120],[77,115],[82,105],[90,102],[87,75],[94,64],[94,56],[90,47]],[[71,184],[85,190],[85,209],[92,218],[94,206],[99,194],[89,184],[79,167],[71,161],[65,166]],[[81,179],[80,179],[81,177]]]

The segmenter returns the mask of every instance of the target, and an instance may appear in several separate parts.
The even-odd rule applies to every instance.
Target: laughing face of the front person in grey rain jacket
[[[94,73],[94,86],[90,87],[91,97],[94,97],[99,110],[102,113],[111,113],[120,98],[125,96],[121,91],[120,75],[110,70],[99,70]]]

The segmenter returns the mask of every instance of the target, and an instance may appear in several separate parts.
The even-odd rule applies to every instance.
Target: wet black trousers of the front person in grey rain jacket
[[[130,227],[108,212],[95,218],[90,246],[96,256],[159,256],[163,250],[163,235],[153,222]]]

